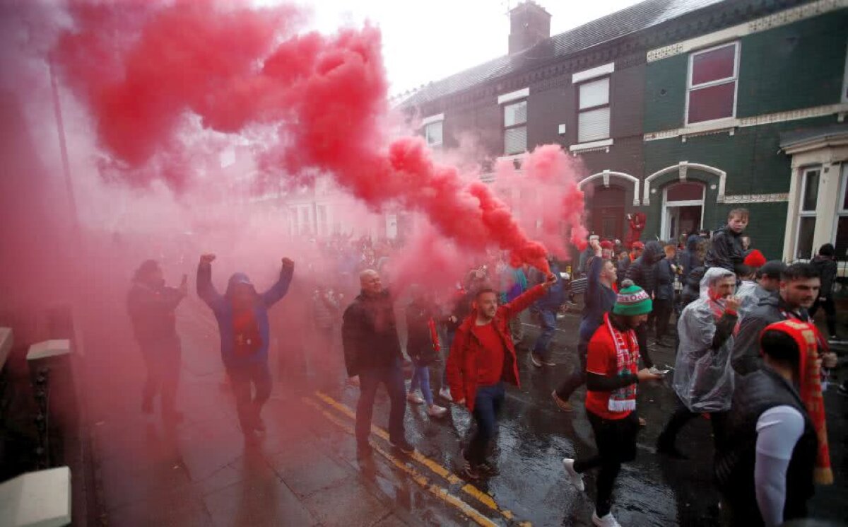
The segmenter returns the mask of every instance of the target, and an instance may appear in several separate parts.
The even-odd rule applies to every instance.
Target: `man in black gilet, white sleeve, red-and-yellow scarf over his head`
[[[777,527],[834,481],[815,329],[784,320],[760,337],[762,369],[739,381],[715,476],[725,524]]]

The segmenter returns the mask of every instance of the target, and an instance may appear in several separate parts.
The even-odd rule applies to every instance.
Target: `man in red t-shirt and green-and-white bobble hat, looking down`
[[[562,464],[577,489],[583,491],[583,473],[600,467],[592,523],[620,527],[611,513],[612,486],[622,463],[636,457],[636,384],[660,379],[651,369],[639,370],[639,342],[633,331],[648,320],[651,300],[631,280],[622,282],[611,313],[604,316],[592,339],[586,362],[586,415],[594,430],[598,454],[589,459],[566,457]]]

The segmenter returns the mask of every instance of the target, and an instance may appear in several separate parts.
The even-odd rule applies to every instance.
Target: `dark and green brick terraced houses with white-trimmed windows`
[[[583,162],[587,224],[605,238],[636,211],[643,238],[668,239],[744,206],[769,258],[826,242],[845,256],[846,55],[848,0],[647,0],[555,36],[527,1],[510,11],[508,54],[399,106],[433,149],[472,137],[520,165],[560,144]]]

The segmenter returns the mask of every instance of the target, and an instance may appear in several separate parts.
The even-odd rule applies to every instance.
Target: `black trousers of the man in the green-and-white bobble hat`
[[[589,459],[578,459],[574,470],[583,474],[591,468],[600,467],[598,489],[595,497],[595,513],[606,516],[612,507],[612,487],[622,469],[622,463],[636,459],[636,434],[639,433],[639,417],[630,412],[623,419],[605,419],[592,412],[586,412],[589,424],[594,431],[594,442],[598,453]]]

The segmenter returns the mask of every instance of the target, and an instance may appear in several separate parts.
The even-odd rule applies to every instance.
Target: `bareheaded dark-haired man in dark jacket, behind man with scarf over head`
[[[781,320],[810,322],[807,310],[818,297],[821,279],[816,268],[807,263],[786,267],[781,275],[780,292],[769,296],[739,322],[734,341],[733,367],[739,375],[754,373],[762,367],[760,334],[769,324]],[[834,354],[823,356],[825,367],[832,367]]]

